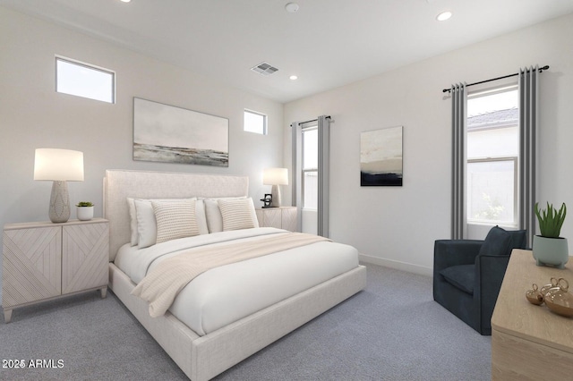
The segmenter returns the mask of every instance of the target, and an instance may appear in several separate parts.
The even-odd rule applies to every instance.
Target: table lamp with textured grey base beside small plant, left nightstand
[[[50,221],[66,222],[70,218],[67,182],[83,182],[83,153],[70,149],[36,149],[34,180],[53,182],[48,213]]]

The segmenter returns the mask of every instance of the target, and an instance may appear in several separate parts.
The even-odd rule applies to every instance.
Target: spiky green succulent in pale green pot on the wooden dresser
[[[559,210],[548,202],[547,209],[539,210],[535,203],[535,216],[539,221],[541,235],[534,236],[533,254],[537,266],[552,265],[564,268],[569,260],[567,239],[559,236],[567,207],[563,203]]]

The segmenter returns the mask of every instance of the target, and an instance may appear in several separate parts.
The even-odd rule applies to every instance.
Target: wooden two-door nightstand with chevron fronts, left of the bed
[[[109,225],[103,218],[64,224],[5,224],[4,320],[18,307],[99,290],[107,295]]]

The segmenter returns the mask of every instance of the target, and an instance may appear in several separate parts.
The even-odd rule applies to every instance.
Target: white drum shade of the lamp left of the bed
[[[34,158],[34,180],[83,182],[83,152],[37,148]]]

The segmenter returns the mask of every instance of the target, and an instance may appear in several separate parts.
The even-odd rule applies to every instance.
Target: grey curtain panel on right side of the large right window
[[[539,68],[519,70],[519,225],[531,247],[535,235],[535,135]]]

